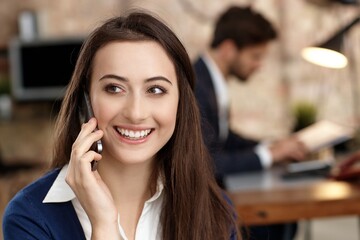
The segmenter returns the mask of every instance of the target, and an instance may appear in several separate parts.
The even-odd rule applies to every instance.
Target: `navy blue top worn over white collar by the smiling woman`
[[[3,216],[4,240],[85,239],[71,201],[42,203],[59,172],[59,169],[49,172],[10,201]],[[230,240],[236,240],[235,232]]]

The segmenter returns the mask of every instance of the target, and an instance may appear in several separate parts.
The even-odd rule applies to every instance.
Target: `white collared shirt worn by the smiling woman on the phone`
[[[68,165],[65,165],[53,185],[45,196],[43,203],[59,203],[71,201],[76,214],[79,218],[81,226],[84,230],[86,239],[91,239],[91,224],[90,220],[81,206],[79,200],[76,198],[75,193],[70,186],[65,182],[65,176]],[[156,193],[145,202],[143,211],[139,218],[139,222],[136,226],[135,240],[149,239],[158,240],[161,239],[162,229],[160,225],[160,214],[162,209],[162,191],[163,184],[158,180]],[[118,216],[119,232],[122,240],[127,240],[124,229],[120,225],[120,215]]]

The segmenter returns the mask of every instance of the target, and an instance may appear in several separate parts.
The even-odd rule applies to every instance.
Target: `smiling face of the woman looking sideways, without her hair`
[[[90,98],[104,131],[103,158],[152,160],[172,136],[179,101],[175,67],[153,41],[113,42],[95,55]]]

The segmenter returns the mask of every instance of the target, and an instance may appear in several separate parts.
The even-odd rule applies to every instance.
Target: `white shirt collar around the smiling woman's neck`
[[[46,194],[43,203],[68,202],[76,198],[75,193],[65,181],[67,169],[68,169],[68,165],[65,165],[61,169],[59,175],[56,177],[53,185]],[[155,194],[146,202],[150,203],[157,200],[160,197],[161,193],[163,192],[163,189],[164,189],[164,184],[161,180],[161,177],[159,177],[157,180]]]

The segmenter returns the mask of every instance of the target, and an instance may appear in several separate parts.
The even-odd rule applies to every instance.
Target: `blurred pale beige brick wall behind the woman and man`
[[[250,83],[230,83],[234,130],[256,138],[286,135],[293,125],[291,106],[304,99],[319,107],[319,118],[352,120],[349,69],[322,69],[300,57],[301,48],[327,38],[351,20],[355,16],[351,6],[319,7],[305,0],[0,0],[0,46],[18,34],[17,16],[23,10],[37,13],[42,37],[59,37],[86,35],[107,17],[141,7],[163,18],[194,59],[205,49],[217,14],[230,4],[248,3],[264,13],[281,34]],[[356,41],[358,28],[352,32],[348,49],[359,53],[355,44],[360,42]],[[356,63],[357,56],[360,54],[355,55]]]

